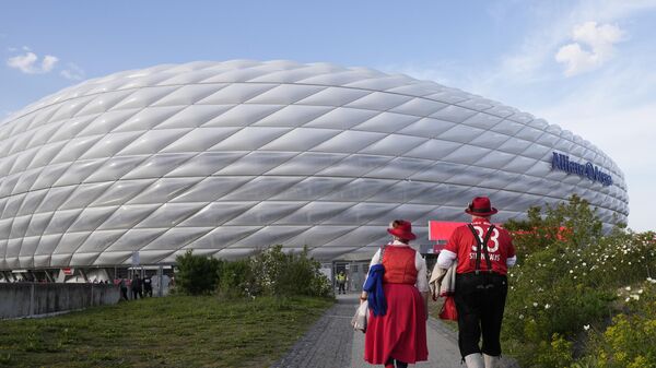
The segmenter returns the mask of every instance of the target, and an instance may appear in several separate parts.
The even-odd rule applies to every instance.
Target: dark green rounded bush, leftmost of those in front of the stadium
[[[176,257],[176,288],[185,294],[210,294],[216,289],[222,261],[202,256],[194,256],[191,249]]]

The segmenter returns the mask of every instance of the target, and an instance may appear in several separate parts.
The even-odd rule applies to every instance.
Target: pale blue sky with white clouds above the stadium
[[[589,140],[624,171],[629,226],[656,229],[654,35],[656,0],[3,1],[0,119],[82,80],[160,63],[401,72]]]

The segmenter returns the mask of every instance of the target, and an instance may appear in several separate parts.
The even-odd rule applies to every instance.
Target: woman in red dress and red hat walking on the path
[[[372,268],[382,263],[385,268],[383,290],[387,309],[378,316],[370,310],[364,359],[370,364],[384,364],[386,368],[394,368],[396,361],[397,368],[405,368],[429,358],[426,263],[409,246],[410,240],[417,238],[409,222],[396,219],[387,232],[394,241],[378,249],[370,264]],[[360,299],[366,300],[367,293],[363,292]]]

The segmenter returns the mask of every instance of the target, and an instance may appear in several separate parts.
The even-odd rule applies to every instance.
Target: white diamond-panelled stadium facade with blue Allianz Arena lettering
[[[291,61],[94,79],[0,124],[0,270],[226,259],[270,245],[373,252],[393,218],[496,221],[578,194],[626,222],[622,171],[589,142],[434,82]]]

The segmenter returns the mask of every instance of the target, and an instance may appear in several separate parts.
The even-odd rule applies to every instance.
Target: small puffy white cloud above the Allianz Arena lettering
[[[610,60],[616,54],[614,44],[624,37],[625,32],[616,25],[586,22],[574,26],[572,39],[576,43],[561,47],[555,60],[566,64],[566,76],[585,73]],[[586,46],[588,49],[584,49]]]

